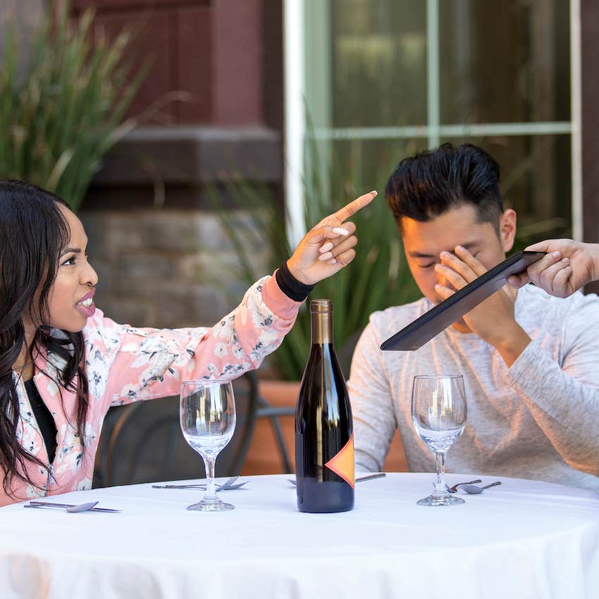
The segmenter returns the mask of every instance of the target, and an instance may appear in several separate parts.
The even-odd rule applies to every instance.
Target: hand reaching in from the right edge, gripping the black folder
[[[597,244],[583,244],[572,239],[548,239],[526,249],[547,252],[547,256],[532,263],[521,275],[509,277],[507,281],[513,287],[533,282],[548,294],[565,298],[599,278]]]

